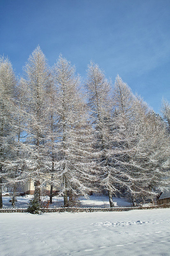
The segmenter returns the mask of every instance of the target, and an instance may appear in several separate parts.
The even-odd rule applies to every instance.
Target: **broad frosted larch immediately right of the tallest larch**
[[[57,97],[57,145],[53,183],[62,181],[64,205],[68,196],[86,196],[95,176],[91,172],[91,140],[86,107],[80,92],[80,78],[75,67],[62,55],[53,67]]]

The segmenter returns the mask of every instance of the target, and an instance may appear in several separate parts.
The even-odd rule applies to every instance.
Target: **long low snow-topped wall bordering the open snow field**
[[[41,208],[41,212],[124,212],[130,210],[144,210],[144,209],[158,209],[169,208],[170,204],[159,204],[144,207],[114,207],[114,208],[76,208],[76,207],[62,207],[62,208]],[[27,212],[26,208],[8,209],[2,208],[0,212]]]

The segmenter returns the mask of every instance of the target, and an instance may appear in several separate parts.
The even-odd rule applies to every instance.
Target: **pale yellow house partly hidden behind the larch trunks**
[[[62,183],[58,187],[53,186],[53,195],[57,195],[61,190]],[[35,190],[35,181],[29,179],[24,185],[22,185],[22,192],[26,195],[33,195]],[[50,195],[50,185],[46,185],[46,187],[40,188],[40,191],[44,195]]]

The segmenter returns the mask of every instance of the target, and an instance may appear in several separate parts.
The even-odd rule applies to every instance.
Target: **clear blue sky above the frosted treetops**
[[[118,73],[159,112],[170,100],[170,1],[1,0],[0,54],[16,74],[40,44],[53,65],[59,53],[85,77],[93,59]]]

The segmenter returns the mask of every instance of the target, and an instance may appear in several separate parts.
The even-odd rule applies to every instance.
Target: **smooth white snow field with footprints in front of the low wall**
[[[0,213],[3,256],[169,256],[170,209]]]

